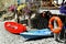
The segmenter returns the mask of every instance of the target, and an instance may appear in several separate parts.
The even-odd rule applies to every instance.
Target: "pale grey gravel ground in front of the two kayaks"
[[[42,38],[42,40],[33,40],[24,42],[20,35],[11,34],[6,31],[3,22],[0,22],[0,44],[63,44],[54,41],[53,37]]]

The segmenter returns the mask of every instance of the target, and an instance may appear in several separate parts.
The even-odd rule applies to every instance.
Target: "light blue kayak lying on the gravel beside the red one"
[[[43,30],[32,30],[24,33],[20,33],[24,38],[36,38],[43,36],[53,36],[53,33],[48,29]]]

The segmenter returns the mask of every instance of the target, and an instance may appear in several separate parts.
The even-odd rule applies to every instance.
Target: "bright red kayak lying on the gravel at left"
[[[4,23],[6,30],[8,30],[11,33],[20,34],[22,32],[26,31],[26,28],[22,24],[19,24],[16,22],[6,22]]]

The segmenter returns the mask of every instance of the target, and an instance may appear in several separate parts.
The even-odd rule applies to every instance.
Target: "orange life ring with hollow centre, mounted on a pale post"
[[[58,24],[58,26],[57,26],[56,29],[54,29],[54,26],[53,26],[53,24],[52,24],[52,22],[53,22],[54,20],[56,20],[56,21],[57,21],[57,24]],[[51,29],[51,31],[52,31],[53,33],[59,33],[59,32],[62,31],[62,28],[63,28],[63,22],[62,22],[62,20],[61,20],[58,16],[52,16],[52,18],[50,19],[50,22],[48,22],[48,28]]]

